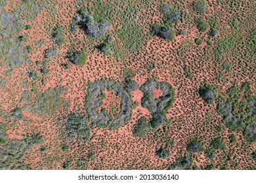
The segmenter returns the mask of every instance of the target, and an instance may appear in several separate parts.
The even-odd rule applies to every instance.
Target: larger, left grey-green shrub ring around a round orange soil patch
[[[120,110],[116,115],[110,114],[104,108],[103,100],[106,99],[105,91],[115,91],[121,98]],[[132,100],[125,86],[114,80],[98,80],[89,84],[86,98],[86,108],[89,118],[98,127],[117,129],[131,120]]]

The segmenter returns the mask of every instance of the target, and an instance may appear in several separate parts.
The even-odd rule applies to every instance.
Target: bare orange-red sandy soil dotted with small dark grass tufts
[[[12,119],[12,122],[7,124],[3,118],[0,118],[0,122],[7,124],[7,134],[10,139],[24,139],[26,135],[37,133],[45,137],[46,141],[43,144],[34,146],[31,151],[26,152],[24,155],[26,164],[30,165],[32,169],[63,169],[63,163],[72,160],[70,169],[75,169],[79,159],[87,157],[89,152],[93,152],[95,159],[89,161],[87,169],[167,169],[177,159],[189,154],[186,151],[186,144],[195,137],[202,138],[206,146],[209,146],[209,142],[212,139],[219,136],[226,137],[224,138],[226,144],[230,144],[228,136],[234,132],[230,131],[221,122],[222,117],[215,110],[216,103],[213,106],[209,106],[200,98],[198,88],[207,80],[209,84],[216,84],[225,90],[232,86],[232,80],[236,80],[236,82],[239,81],[239,86],[245,81],[251,82],[252,88],[255,89],[255,77],[245,76],[240,73],[236,74],[236,78],[230,77],[228,84],[224,84],[222,81],[217,83],[218,71],[213,59],[207,59],[205,62],[202,61],[206,60],[203,54],[203,50],[207,46],[205,43],[202,46],[190,46],[190,50],[185,52],[183,57],[173,54],[173,50],[182,48],[184,44],[187,45],[187,41],[194,42],[198,35],[198,29],[192,26],[192,24],[186,29],[186,31],[189,31],[187,36],[177,36],[174,42],[167,42],[159,37],[152,37],[140,52],[132,54],[131,57],[123,62],[118,61],[113,56],[104,56],[94,51],[92,54],[89,53],[89,59],[85,67],[72,65],[72,69],[65,69],[63,64],[70,63],[70,61],[64,58],[64,56],[70,50],[72,40],[78,39],[85,45],[88,40],[88,36],[81,29],[75,35],[68,31],[70,22],[75,16],[75,11],[79,8],[74,2],[74,0],[59,1],[56,4],[58,14],[55,17],[52,16],[49,10],[43,9],[37,20],[32,22],[33,28],[23,32],[30,36],[28,44],[33,48],[33,53],[30,54],[32,63],[19,69],[14,69],[11,78],[5,76],[9,69],[0,67],[0,76],[8,80],[6,88],[1,88],[0,86],[0,107],[2,110],[11,112],[16,107],[24,108],[28,104],[20,103],[23,93],[32,88],[32,86],[29,89],[22,87],[22,82],[26,79],[30,82],[35,82],[40,92],[45,92],[49,88],[65,86],[66,94],[62,95],[62,98],[71,104],[70,110],[65,110],[65,104],[63,103],[62,108],[56,114],[44,118],[35,116],[32,112],[26,112],[26,110],[23,110],[24,120],[21,121]],[[6,10],[12,10],[13,7],[11,6],[17,6],[16,4],[18,4],[16,1],[9,3]],[[220,8],[209,8],[209,11],[212,13],[217,12]],[[190,9],[190,11],[192,10]],[[146,13],[146,10],[141,10],[140,16]],[[161,22],[162,16],[162,14],[156,14],[152,17],[153,21]],[[43,61],[47,48],[56,48],[51,31],[47,30],[49,25],[46,24],[49,22],[51,22],[52,29],[57,24],[64,27],[65,31],[67,31],[67,41],[64,45],[60,46],[60,56],[49,61],[48,69],[51,69],[51,73],[47,76],[40,74],[40,77],[45,80],[45,84],[42,84],[40,80],[30,80],[27,73],[32,70],[39,70],[39,66],[35,65],[35,61]],[[223,24],[226,25],[227,30],[230,29],[228,23],[223,22]],[[121,28],[118,27],[117,29]],[[112,28],[112,31],[114,31],[114,28]],[[224,35],[221,36],[224,37]],[[207,37],[206,34],[205,37]],[[45,44],[39,48],[36,42],[41,39],[43,39]],[[80,50],[83,48],[78,42],[75,42],[75,46]],[[212,49],[214,49],[214,46]],[[186,58],[186,63],[181,61],[182,58]],[[146,65],[150,65],[153,61],[156,64],[156,69],[149,73]],[[140,86],[148,78],[156,78],[159,81],[171,83],[175,88],[175,103],[167,112],[167,117],[171,119],[171,124],[165,127],[167,132],[161,128],[158,131],[151,131],[148,136],[143,138],[133,135],[134,127],[140,118],[143,116],[148,119],[152,118],[148,109],[141,106],[143,93],[137,90],[132,93],[132,96],[133,101],[137,101],[139,105],[133,109],[132,119],[127,125],[114,131],[95,127],[91,131],[91,142],[70,141],[64,133],[66,131],[65,119],[72,112],[83,112],[86,114],[85,98],[89,82],[95,82],[101,78],[123,82],[123,73],[127,68],[125,63],[129,63],[129,67],[135,73],[135,81]],[[185,66],[189,67],[190,72],[194,73],[192,79],[186,77],[184,72]],[[234,76],[234,73],[237,73],[237,71],[231,71],[229,74]],[[113,102],[115,102],[115,106],[118,106],[116,101],[118,103],[121,99],[118,99],[112,91],[106,91],[105,93],[105,108],[110,110],[110,105],[113,105]],[[154,93],[155,99],[161,97],[162,94],[161,90],[156,90]],[[32,101],[34,99],[35,95],[33,94]],[[223,131],[217,131],[213,127],[216,124],[223,127]],[[249,165],[249,163],[245,164],[244,162],[251,162],[249,154],[244,153],[244,147],[249,146],[250,148],[247,149],[247,152],[253,152],[256,145],[248,145],[242,132],[235,134],[238,137],[238,143],[235,146],[228,145],[227,152],[231,152],[234,155],[232,162],[239,163],[240,167],[238,169],[244,169]],[[164,146],[165,139],[168,138],[172,138],[176,146],[170,149],[171,156],[169,158],[158,158],[156,150]],[[63,144],[70,146],[70,152],[64,153],[61,150]],[[44,154],[40,152],[42,146],[47,148],[47,152]],[[214,162],[206,158],[203,152],[198,152],[193,155],[194,163],[201,168],[211,163],[216,166],[224,165],[227,152],[223,153],[221,150],[216,152],[217,158]]]

